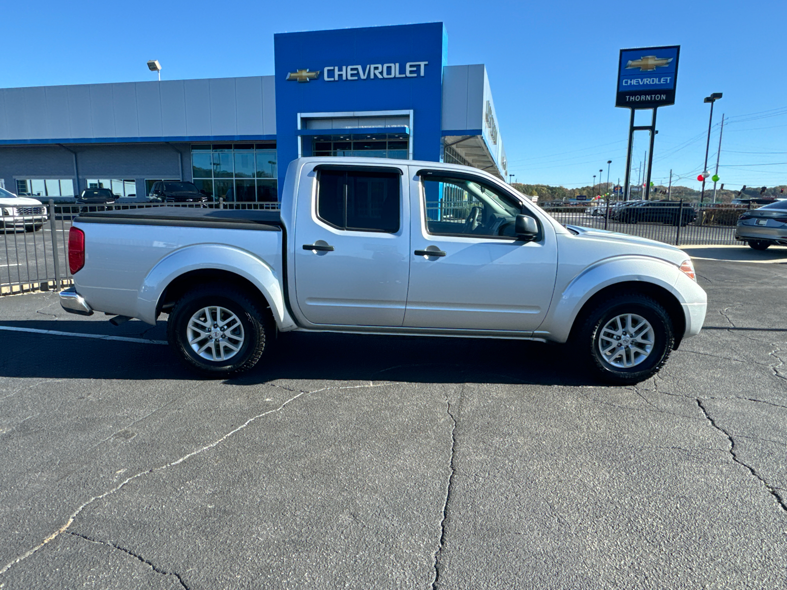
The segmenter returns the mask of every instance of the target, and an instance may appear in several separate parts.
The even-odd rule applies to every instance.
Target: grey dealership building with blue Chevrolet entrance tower
[[[507,175],[486,68],[448,65],[442,23],[283,33],[274,47],[273,76],[0,89],[0,183],[141,201],[179,179],[215,199],[276,201],[300,156]]]

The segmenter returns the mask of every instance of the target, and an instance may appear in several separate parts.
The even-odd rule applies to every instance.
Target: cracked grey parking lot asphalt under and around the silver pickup
[[[127,340],[0,329],[0,588],[785,588],[787,264],[696,268],[704,330],[631,387],[343,334],[209,381],[164,322],[2,297]]]

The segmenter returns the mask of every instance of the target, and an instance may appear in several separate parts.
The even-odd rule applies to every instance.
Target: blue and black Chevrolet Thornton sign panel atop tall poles
[[[615,106],[656,109],[675,104],[681,46],[620,50]]]

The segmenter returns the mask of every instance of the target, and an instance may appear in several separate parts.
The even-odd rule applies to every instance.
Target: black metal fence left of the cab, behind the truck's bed
[[[79,213],[152,207],[279,209],[279,203],[122,203],[0,208],[0,295],[60,290],[72,283],[68,230]]]

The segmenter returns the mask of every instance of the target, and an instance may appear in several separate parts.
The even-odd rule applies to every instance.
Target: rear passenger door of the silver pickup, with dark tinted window
[[[320,325],[401,326],[410,270],[401,168],[323,164],[306,179],[294,237],[301,313]]]

